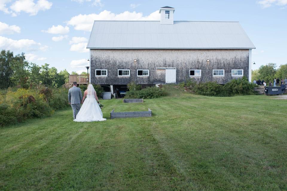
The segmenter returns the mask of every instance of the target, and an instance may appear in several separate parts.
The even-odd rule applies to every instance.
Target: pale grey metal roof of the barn
[[[91,49],[253,49],[239,22],[94,21]]]

